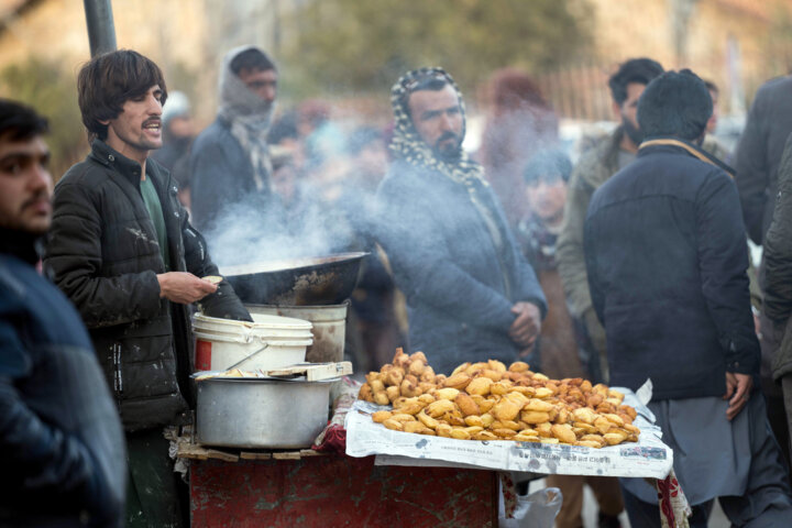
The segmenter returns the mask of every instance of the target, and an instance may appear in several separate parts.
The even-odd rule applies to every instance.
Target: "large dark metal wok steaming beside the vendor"
[[[245,304],[339,305],[352,295],[361,262],[369,253],[266,261],[223,266],[220,273]]]

